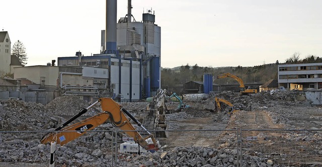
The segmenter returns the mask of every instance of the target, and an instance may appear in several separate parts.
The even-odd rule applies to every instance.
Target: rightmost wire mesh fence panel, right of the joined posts
[[[243,154],[285,166],[322,165],[322,130],[242,130]],[[243,157],[245,158],[245,157]]]

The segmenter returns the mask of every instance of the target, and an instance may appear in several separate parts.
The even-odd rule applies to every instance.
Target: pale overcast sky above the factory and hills
[[[27,66],[57,57],[98,54],[105,29],[103,0],[11,0],[1,2],[0,31],[12,46],[20,40]],[[118,0],[117,20],[127,14]],[[142,21],[151,9],[161,27],[161,66],[243,66],[285,62],[295,52],[322,57],[320,0],[132,0]]]

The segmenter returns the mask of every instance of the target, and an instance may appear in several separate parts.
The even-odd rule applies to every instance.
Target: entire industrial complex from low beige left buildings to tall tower
[[[154,24],[151,10],[142,14],[141,22],[132,22],[130,2],[128,14],[117,22],[117,0],[106,1],[107,31],[102,31],[99,54],[76,52],[75,56],[58,57],[57,66],[53,60],[47,66],[16,67],[15,79],[29,79],[39,84],[40,91],[53,91],[53,98],[57,92],[88,101],[112,97],[133,102],[154,96],[160,89],[161,30]]]

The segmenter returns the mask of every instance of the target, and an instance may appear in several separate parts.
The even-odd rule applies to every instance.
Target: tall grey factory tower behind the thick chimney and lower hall
[[[131,9],[128,1],[128,9]],[[132,21],[133,18],[133,21]],[[160,55],[161,28],[154,24],[154,11],[148,10],[142,14],[142,22],[136,22],[128,10],[124,18],[117,23],[117,49],[124,58],[137,58],[142,61],[141,75],[143,82],[143,97],[154,96],[160,88]],[[105,30],[101,31],[101,53],[105,49]]]

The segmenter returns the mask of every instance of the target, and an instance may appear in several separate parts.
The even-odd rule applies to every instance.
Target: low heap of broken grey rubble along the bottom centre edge
[[[148,152],[140,156],[124,154],[120,166],[236,166],[236,151],[230,148],[182,146],[169,152]],[[243,166],[271,166],[265,158],[247,154],[244,157],[248,160],[243,162]]]

